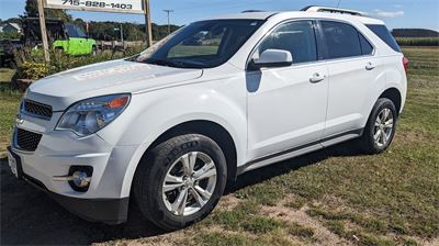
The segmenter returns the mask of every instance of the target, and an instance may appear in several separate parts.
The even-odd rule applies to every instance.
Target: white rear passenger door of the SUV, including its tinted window
[[[380,79],[381,60],[371,42],[345,22],[320,21],[329,74],[328,110],[324,138],[364,127],[370,96]]]

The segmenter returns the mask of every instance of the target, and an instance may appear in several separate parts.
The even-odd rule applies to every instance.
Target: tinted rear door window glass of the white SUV
[[[328,59],[361,56],[361,45],[357,30],[345,23],[323,21],[323,34]]]

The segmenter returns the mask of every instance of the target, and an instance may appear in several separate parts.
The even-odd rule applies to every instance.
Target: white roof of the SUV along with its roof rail
[[[271,16],[282,16],[283,19],[301,19],[301,18],[313,18],[313,19],[335,19],[335,20],[350,20],[360,21],[363,24],[384,24],[383,21],[360,15],[342,14],[342,13],[327,13],[327,12],[306,12],[306,11],[282,11],[282,12],[266,12],[266,11],[249,11],[235,14],[226,14],[210,18],[206,20],[267,20]]]

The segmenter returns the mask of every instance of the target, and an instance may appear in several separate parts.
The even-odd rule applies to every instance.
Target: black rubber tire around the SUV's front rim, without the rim
[[[192,152],[204,153],[214,161],[216,185],[210,200],[198,212],[176,215],[166,208],[162,185],[171,165]],[[224,192],[226,181],[226,158],[219,146],[206,136],[187,134],[162,142],[144,156],[134,177],[133,191],[147,220],[164,230],[173,231],[198,222],[211,213]]]

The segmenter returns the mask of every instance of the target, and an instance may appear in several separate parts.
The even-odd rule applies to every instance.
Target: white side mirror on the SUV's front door
[[[288,67],[293,64],[293,56],[289,51],[267,49],[260,54],[259,58],[252,59],[250,67],[259,69],[262,67]]]

